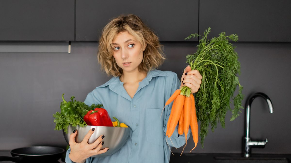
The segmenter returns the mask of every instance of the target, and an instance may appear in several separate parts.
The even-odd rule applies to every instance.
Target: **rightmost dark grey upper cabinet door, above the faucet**
[[[239,41],[291,41],[290,0],[203,0],[199,33],[211,27],[209,38],[221,32]]]

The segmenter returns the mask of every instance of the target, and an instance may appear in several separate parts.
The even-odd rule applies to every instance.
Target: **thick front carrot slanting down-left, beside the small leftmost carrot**
[[[182,109],[183,109],[183,105],[184,105],[184,99],[185,96],[184,95],[178,95],[175,99],[176,103],[175,107],[172,108],[173,111],[173,116],[170,122],[170,127],[169,127],[169,131],[168,131],[168,137],[171,137],[173,132],[175,131],[175,128],[178,124]],[[171,112],[172,112],[171,111]]]

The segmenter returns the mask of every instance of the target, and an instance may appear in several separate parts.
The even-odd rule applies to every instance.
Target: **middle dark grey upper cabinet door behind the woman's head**
[[[103,27],[120,14],[139,16],[160,41],[184,41],[198,32],[198,0],[76,0],[76,41],[98,41]]]

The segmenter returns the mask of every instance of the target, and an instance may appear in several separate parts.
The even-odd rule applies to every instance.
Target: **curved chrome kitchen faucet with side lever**
[[[265,93],[255,93],[251,95],[248,100],[246,101],[246,123],[245,123],[245,137],[244,137],[244,157],[250,157],[251,154],[251,147],[259,147],[259,146],[265,146],[268,140],[266,139],[265,141],[260,141],[260,142],[253,142],[251,141],[250,138],[250,110],[251,110],[251,104],[253,100],[256,97],[263,97],[269,107],[269,113],[274,112],[273,104],[271,99],[265,94]]]

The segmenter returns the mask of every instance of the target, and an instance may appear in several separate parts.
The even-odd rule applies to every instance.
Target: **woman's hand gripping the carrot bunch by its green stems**
[[[200,88],[202,76],[200,75],[198,70],[191,70],[190,66],[187,66],[184,70],[184,73],[181,77],[181,86],[187,86],[191,88],[191,93],[198,92]]]

